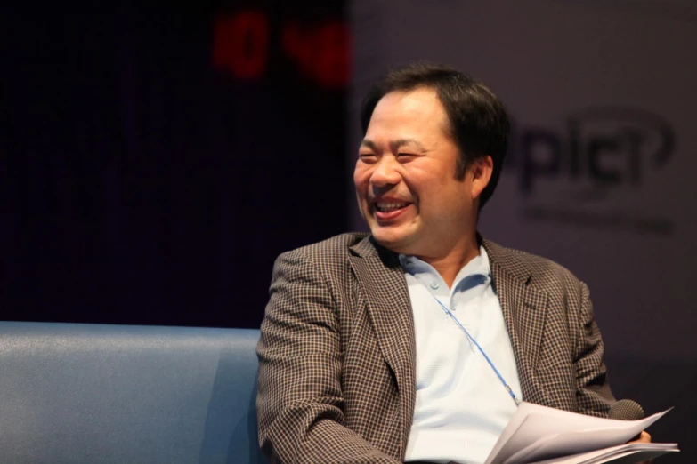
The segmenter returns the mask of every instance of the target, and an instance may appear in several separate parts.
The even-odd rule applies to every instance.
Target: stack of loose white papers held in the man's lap
[[[626,444],[666,412],[612,420],[522,403],[485,464],[628,464],[677,452],[677,444]]]

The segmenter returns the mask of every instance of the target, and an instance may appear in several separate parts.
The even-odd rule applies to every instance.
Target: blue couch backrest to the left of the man
[[[259,332],[0,323],[0,462],[260,463]]]

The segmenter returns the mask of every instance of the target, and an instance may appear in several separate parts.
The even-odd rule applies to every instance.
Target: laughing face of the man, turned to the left
[[[361,142],[353,182],[378,244],[437,258],[474,227],[472,176],[455,179],[458,147],[431,89],[378,101]]]

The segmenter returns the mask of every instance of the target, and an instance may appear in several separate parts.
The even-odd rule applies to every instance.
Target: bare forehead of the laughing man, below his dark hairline
[[[377,102],[366,137],[385,131],[409,132],[401,134],[405,137],[418,134],[444,136],[447,120],[445,108],[433,89],[390,92]]]

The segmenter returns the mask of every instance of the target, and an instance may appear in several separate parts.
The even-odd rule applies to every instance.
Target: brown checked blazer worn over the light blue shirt
[[[613,403],[588,287],[482,240],[523,400],[604,415]],[[257,348],[259,443],[272,462],[401,462],[416,347],[399,260],[366,234],[280,255]]]

